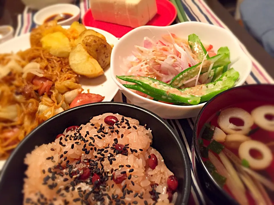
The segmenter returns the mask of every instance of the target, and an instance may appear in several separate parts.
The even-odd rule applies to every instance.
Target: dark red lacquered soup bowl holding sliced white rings
[[[213,153],[213,155],[216,156],[215,159],[218,159],[218,161],[223,165],[223,167],[225,167],[225,169],[228,170],[228,168],[224,165],[224,161],[222,161],[222,159],[220,157],[221,155],[214,153],[213,149],[211,149],[210,146],[208,147],[209,143],[211,143],[212,141],[215,141],[215,140],[213,140],[213,139],[204,140],[204,137],[203,137],[203,139],[201,138],[201,136],[205,130],[205,125],[207,125],[207,126],[210,125],[211,128],[212,128],[212,126],[219,127],[218,123],[217,123],[218,122],[217,118],[221,113],[220,111],[224,110],[226,108],[229,108],[229,107],[242,108],[242,109],[246,110],[247,112],[251,113],[251,111],[254,108],[257,108],[261,105],[273,106],[273,108],[274,108],[274,85],[267,85],[267,84],[264,84],[264,85],[243,85],[243,86],[231,88],[227,91],[224,91],[224,92],[216,95],[211,100],[209,100],[205,104],[205,106],[202,108],[200,113],[198,114],[198,116],[196,118],[196,122],[194,124],[194,129],[193,129],[192,160],[193,160],[193,164],[194,164],[195,178],[196,178],[199,186],[201,187],[204,196],[206,197],[205,200],[207,201],[207,204],[244,204],[244,203],[239,203],[239,200],[236,200],[235,194],[237,195],[237,192],[235,193],[234,190],[233,190],[234,194],[232,193],[233,191],[231,192],[231,186],[229,188],[227,185],[228,179],[225,179],[225,182],[222,184],[223,185],[222,186],[222,185],[220,185],[220,181],[217,182],[215,180],[216,177],[214,177],[212,175],[212,173],[213,173],[212,169],[211,170],[208,169],[207,163],[209,163],[209,162],[211,163],[212,157],[210,159],[210,156],[209,156],[209,158],[207,158],[205,156],[207,156],[208,150],[210,150],[210,153]],[[272,111],[269,111],[270,112],[269,114],[272,115],[271,119],[269,119],[269,117],[266,116],[266,114],[268,114],[267,112],[268,111],[265,111],[265,114],[262,116],[265,117],[266,119],[270,120],[269,122],[271,122],[272,126],[274,126],[273,109],[272,109]],[[234,118],[234,117],[230,117],[229,120],[231,118]],[[255,118],[253,117],[253,119],[255,119]],[[232,122],[232,123],[236,124],[235,122]],[[263,142],[264,145],[269,146],[268,144],[266,144],[267,143],[266,141],[268,141],[268,142],[271,140],[274,141],[274,132],[265,131],[262,127],[259,126],[259,124],[260,124],[259,122],[256,123],[256,120],[254,120],[254,124],[250,127],[250,130],[256,130],[258,128],[258,132],[254,133],[254,132],[249,131],[248,134],[244,134],[244,135],[251,138],[249,140],[261,141],[261,142]],[[238,125],[238,126],[243,126],[243,125]],[[256,129],[254,129],[254,127]],[[229,134],[229,133],[226,132],[224,134],[226,137],[225,139],[227,139],[227,134]],[[265,137],[267,137],[267,139],[264,139]],[[216,138],[214,138],[214,139],[216,139]],[[252,179],[254,183],[258,182],[257,178],[254,178],[253,174],[250,175],[249,173],[245,172],[245,168],[251,169],[252,167],[249,166],[249,164],[247,164],[247,166],[244,165],[245,159],[241,159],[242,157],[239,156],[239,147],[238,148],[227,147],[227,144],[225,144],[225,142],[226,141],[220,142],[220,145],[223,145],[223,147],[224,147],[222,149],[222,154],[225,153],[225,155],[227,156],[226,158],[229,159],[229,161],[233,165],[234,169],[236,170],[237,174],[241,173],[241,171],[244,170],[244,174],[243,175],[239,174],[239,179],[238,179],[241,181],[241,184],[243,185],[244,200],[246,200],[245,202],[247,202],[247,204],[256,204],[255,199],[249,190],[249,187],[246,185],[246,183],[244,182],[244,179],[242,178],[242,176],[247,176],[247,177],[249,177],[249,179]],[[204,150],[200,149],[201,146],[204,148]],[[273,183],[273,180],[274,180],[273,148],[274,147],[272,147],[272,151],[269,152],[272,154],[272,158],[271,158],[272,161],[271,161],[271,164],[267,168],[265,168],[263,170],[259,170],[259,171],[252,170],[253,168],[251,169],[252,173],[255,172],[257,174],[260,174],[261,176],[263,176],[267,180],[269,180],[272,183],[272,185],[274,185],[274,183]],[[227,149],[228,149],[228,151],[226,151]],[[203,152],[205,150],[206,150],[206,152]],[[269,150],[271,150],[271,149],[269,148]],[[230,153],[234,153],[234,156],[239,157],[238,159],[241,160],[241,161],[238,161],[238,164],[237,164],[237,166],[239,166],[239,167],[235,166],[236,164],[233,164],[233,162],[237,162],[237,161],[233,161],[233,159],[227,155],[227,153],[229,151],[231,151]],[[250,153],[249,151],[247,153]],[[249,155],[251,155],[251,153]],[[211,161],[209,161],[209,159]],[[209,161],[209,162],[206,163],[206,161]],[[217,169],[216,172],[219,173],[219,170]],[[232,178],[232,179],[234,179],[234,178]],[[246,177],[245,177],[245,179],[246,179]],[[230,180],[230,182],[231,182],[231,180]],[[232,180],[232,182],[233,182],[232,184],[235,184],[235,183],[237,183],[237,180]],[[262,194],[262,192],[260,192],[261,196],[263,196],[263,198],[261,198],[261,199],[265,200],[265,202],[268,202],[267,204],[273,204],[274,197],[273,197],[272,185],[270,184],[271,186],[269,185],[270,186],[270,188],[269,188],[269,187],[265,186],[264,183],[261,183],[260,180],[259,180],[259,182],[262,185],[261,187],[263,187],[263,190],[265,190],[264,194],[266,194],[268,196],[268,197],[265,197],[265,195]],[[255,187],[258,188],[258,185],[256,185]],[[259,190],[261,190],[261,189],[259,189]]]

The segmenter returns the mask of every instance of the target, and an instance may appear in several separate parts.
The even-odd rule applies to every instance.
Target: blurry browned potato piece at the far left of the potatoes
[[[50,22],[44,23],[43,25],[37,28],[34,28],[30,34],[31,47],[35,47],[35,46],[41,47],[42,44],[40,40],[43,37],[43,32],[55,26],[57,26],[57,21],[50,21]]]

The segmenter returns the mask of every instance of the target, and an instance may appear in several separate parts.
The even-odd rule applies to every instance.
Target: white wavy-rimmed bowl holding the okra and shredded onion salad
[[[155,40],[160,40],[163,34],[168,34],[168,31],[185,39],[188,38],[189,34],[195,33],[204,44],[213,45],[215,51],[221,46],[227,46],[230,50],[231,62],[237,60],[233,63],[232,67],[240,74],[235,86],[243,85],[250,74],[252,62],[241,49],[238,40],[228,30],[201,22],[183,22],[166,27],[141,26],[133,29],[120,38],[111,54],[110,68],[112,79],[131,103],[146,108],[166,119],[195,117],[204,106],[205,103],[177,106],[153,101],[133,93],[116,79],[116,75],[125,75],[124,71],[120,68],[120,65],[123,63],[124,58],[132,56],[132,51],[135,50],[134,45],[142,46],[144,37],[146,36],[154,38]]]

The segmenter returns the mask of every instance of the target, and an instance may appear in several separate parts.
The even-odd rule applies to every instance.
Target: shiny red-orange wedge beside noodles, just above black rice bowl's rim
[[[74,108],[83,104],[102,102],[105,97],[92,93],[79,94],[70,104],[69,108]]]

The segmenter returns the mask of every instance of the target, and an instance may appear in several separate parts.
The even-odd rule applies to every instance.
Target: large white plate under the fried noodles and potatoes
[[[69,28],[69,26],[63,26],[63,28]],[[106,40],[109,44],[117,44],[118,39],[112,34],[98,29],[86,26],[87,29],[95,30],[106,37]],[[23,34],[16,38],[13,38],[3,44],[0,44],[0,53],[10,53],[10,52],[18,52],[20,50],[26,50],[31,47],[29,41],[30,33]],[[89,89],[90,93],[99,94],[105,96],[104,101],[111,101],[116,93],[118,92],[118,86],[111,78],[110,66],[104,69],[104,75],[101,75],[97,78],[85,78],[80,77],[80,84],[84,89],[84,93],[87,93],[87,89]],[[0,170],[2,169],[5,160],[0,160]]]

